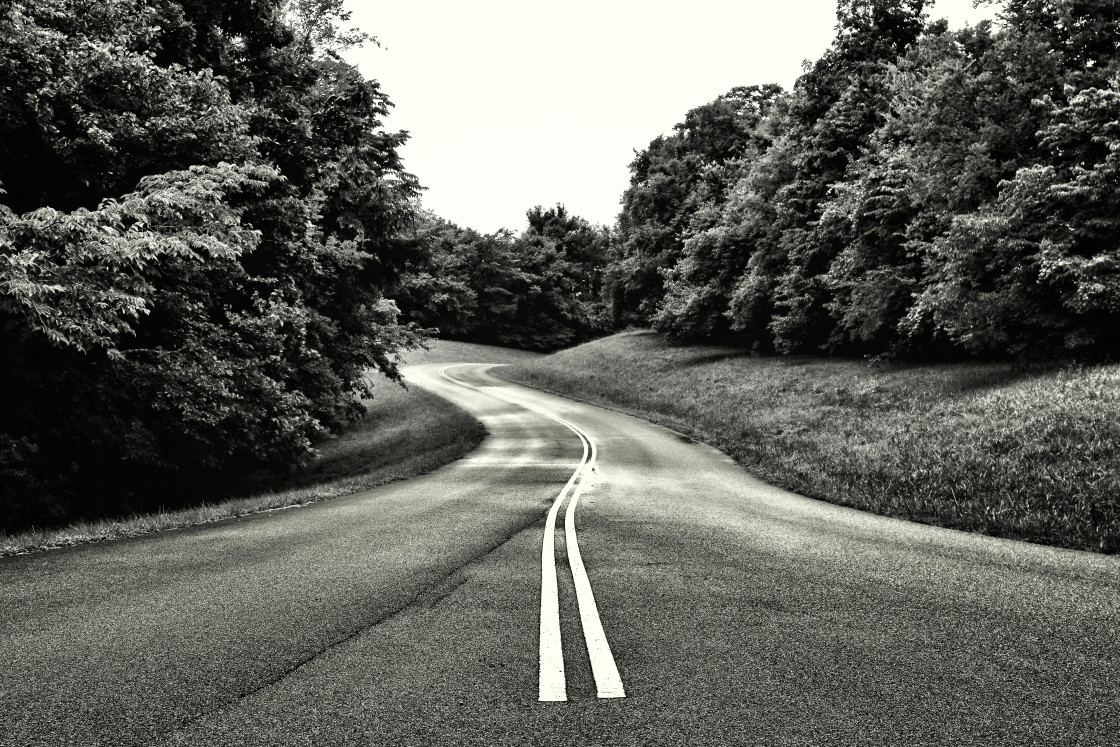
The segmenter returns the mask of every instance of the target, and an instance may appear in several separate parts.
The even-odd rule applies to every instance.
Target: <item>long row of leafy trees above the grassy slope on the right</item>
[[[894,356],[1120,343],[1120,6],[840,0],[792,92],[740,87],[631,165],[613,323]]]

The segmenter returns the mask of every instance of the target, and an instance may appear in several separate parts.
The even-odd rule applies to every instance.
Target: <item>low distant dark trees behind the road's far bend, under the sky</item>
[[[526,217],[515,235],[426,215],[411,236],[416,260],[393,290],[403,318],[444,337],[531,351],[605,332],[609,233],[563,205],[538,205]]]

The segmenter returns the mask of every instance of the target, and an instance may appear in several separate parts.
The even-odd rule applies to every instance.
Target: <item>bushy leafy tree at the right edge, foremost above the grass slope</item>
[[[1055,165],[1020,169],[998,200],[935,244],[909,323],[962,346],[1045,355],[1114,349],[1120,328],[1120,81],[1070,91],[1040,139]]]

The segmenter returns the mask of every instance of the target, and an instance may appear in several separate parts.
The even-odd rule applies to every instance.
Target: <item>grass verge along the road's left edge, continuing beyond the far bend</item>
[[[538,355],[436,340],[428,351],[404,355],[404,363],[516,363]],[[248,487],[235,491],[237,495],[199,496],[197,505],[178,511],[0,533],[0,557],[137,536],[347,495],[429,473],[474,449],[485,435],[482,423],[446,400],[419,389],[405,390],[381,376],[372,381],[373,398],[365,402],[365,417],[345,433],[320,443],[318,457],[306,469],[290,475],[243,476],[241,483]]]

